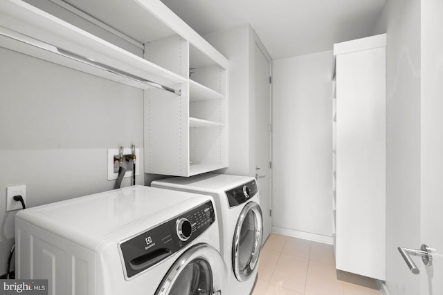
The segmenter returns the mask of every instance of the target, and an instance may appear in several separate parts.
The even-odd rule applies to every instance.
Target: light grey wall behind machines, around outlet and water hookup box
[[[0,48],[0,274],[16,211],[6,187],[26,184],[26,205],[114,188],[107,149],[135,144],[143,163],[143,91]],[[143,184],[143,165],[137,184]],[[122,187],[129,185],[125,179]]]

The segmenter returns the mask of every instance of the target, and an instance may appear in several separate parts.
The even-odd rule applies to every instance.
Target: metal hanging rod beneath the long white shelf
[[[21,41],[21,42],[23,42],[25,44],[28,44],[30,46],[35,46],[37,48],[40,48],[40,49],[43,49],[43,50],[47,50],[47,51],[49,51],[51,53],[55,53],[55,54],[61,55],[63,57],[68,57],[69,59],[73,59],[75,61],[80,61],[83,64],[87,64],[87,65],[93,66],[95,68],[100,68],[100,70],[106,70],[109,73],[114,73],[114,74],[119,75],[121,77],[125,77],[127,79],[132,79],[132,80],[134,80],[136,82],[141,82],[143,84],[152,86],[154,88],[159,88],[159,89],[164,90],[164,91],[169,91],[171,93],[175,93],[176,95],[181,95],[181,90],[176,90],[174,88],[170,88],[168,86],[164,86],[164,85],[161,85],[159,83],[152,82],[152,81],[147,80],[147,79],[143,79],[143,78],[138,77],[136,75],[132,75],[130,73],[126,73],[123,70],[118,70],[118,68],[107,66],[107,65],[102,64],[102,63],[100,63],[98,61],[95,61],[93,59],[89,59],[88,57],[84,57],[82,55],[78,55],[76,53],[72,53],[69,50],[64,50],[62,48],[58,48],[57,46],[53,46],[53,45],[45,43],[43,41],[39,41],[37,39],[34,39],[32,37],[23,35],[23,34],[21,34],[19,32],[15,32],[14,30],[9,30],[8,28],[4,28],[2,26],[0,26],[0,35],[8,37],[8,38],[11,38],[11,39],[14,39],[14,40],[17,40],[17,41]]]

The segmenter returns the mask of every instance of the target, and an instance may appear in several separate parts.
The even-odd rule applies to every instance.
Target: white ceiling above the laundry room
[[[161,0],[200,35],[250,23],[273,59],[371,35],[386,0]]]

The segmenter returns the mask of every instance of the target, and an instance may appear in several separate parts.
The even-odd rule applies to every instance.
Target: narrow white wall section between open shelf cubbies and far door
[[[203,36],[230,62],[228,77],[228,157],[226,174],[254,175],[255,103],[253,30],[242,25]]]

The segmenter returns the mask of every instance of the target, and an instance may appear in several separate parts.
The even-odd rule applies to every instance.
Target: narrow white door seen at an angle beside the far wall
[[[271,63],[255,44],[255,172],[263,213],[263,242],[271,234]]]

